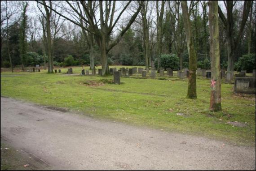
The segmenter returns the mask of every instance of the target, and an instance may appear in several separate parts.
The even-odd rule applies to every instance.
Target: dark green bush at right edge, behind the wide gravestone
[[[234,64],[234,70],[241,71],[242,69],[245,69],[247,72],[252,72],[252,70],[256,68],[255,60],[255,53],[243,55]]]

